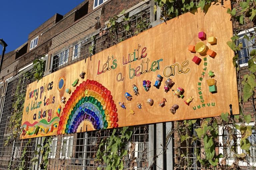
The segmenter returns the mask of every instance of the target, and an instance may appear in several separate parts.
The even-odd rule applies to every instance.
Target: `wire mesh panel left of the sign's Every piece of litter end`
[[[18,94],[25,97],[27,85],[33,81],[32,78],[29,79],[28,77],[32,76],[28,76],[28,74],[25,77],[20,75],[12,81],[8,81],[7,84],[0,122],[0,169],[15,169],[22,160],[24,160],[27,169],[31,169],[32,167],[30,159],[34,152],[35,138],[32,139],[31,142],[28,142],[28,140],[20,140],[19,134],[17,134],[17,137],[14,137],[13,131],[10,130],[12,129],[10,127],[10,117],[14,111],[13,104],[17,100],[17,95],[15,94],[17,90],[19,90]],[[22,105],[22,103],[20,103],[20,105]],[[27,152],[22,156],[25,147]]]

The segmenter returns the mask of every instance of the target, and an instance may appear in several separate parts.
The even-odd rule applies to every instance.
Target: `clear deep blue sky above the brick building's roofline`
[[[28,34],[55,13],[66,14],[84,0],[0,0],[0,39],[10,52],[27,42]],[[0,46],[2,53],[2,46]],[[0,54],[1,55],[1,54]]]

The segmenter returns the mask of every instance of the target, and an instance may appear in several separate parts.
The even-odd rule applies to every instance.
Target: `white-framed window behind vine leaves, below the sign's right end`
[[[241,125],[241,124],[238,124]],[[254,126],[255,123],[251,122],[249,124],[245,124],[246,126]],[[241,153],[245,153],[245,150],[241,149],[240,147],[240,138],[241,138],[241,132],[240,130],[236,129],[233,126],[230,126],[230,128],[234,128],[235,130],[235,134],[237,135],[237,141],[232,140],[230,143],[230,147],[225,147],[225,149],[223,148],[223,144],[226,143],[225,140],[227,140],[227,136],[228,136],[228,130],[225,129],[223,126],[219,127],[219,143],[220,143],[220,147],[219,147],[219,152],[222,153],[223,155],[227,155],[227,165],[232,165],[235,157],[234,154],[241,154]],[[251,143],[251,147],[250,147],[250,152],[251,155],[248,157],[248,162],[250,164],[250,166],[256,166],[256,130],[252,129],[252,135],[250,137],[248,137],[250,143]],[[237,146],[236,148],[232,148],[235,153],[233,151],[231,151],[231,147],[233,145],[233,143],[236,142]],[[219,159],[219,161],[222,161],[222,158]],[[239,161],[239,166],[248,166],[247,162],[244,161]]]

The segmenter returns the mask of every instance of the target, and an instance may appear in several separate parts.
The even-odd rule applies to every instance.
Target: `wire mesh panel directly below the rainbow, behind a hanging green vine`
[[[118,128],[117,132],[120,130]],[[132,148],[132,151],[125,158],[125,169],[147,169],[148,126],[130,127],[130,130],[132,136],[126,148]],[[48,169],[97,169],[98,144],[103,138],[109,137],[112,131],[109,129],[54,136]]]

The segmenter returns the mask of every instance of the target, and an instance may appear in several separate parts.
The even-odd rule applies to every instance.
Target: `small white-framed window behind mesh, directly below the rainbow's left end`
[[[73,151],[74,136],[62,137],[60,158],[71,158]]]

